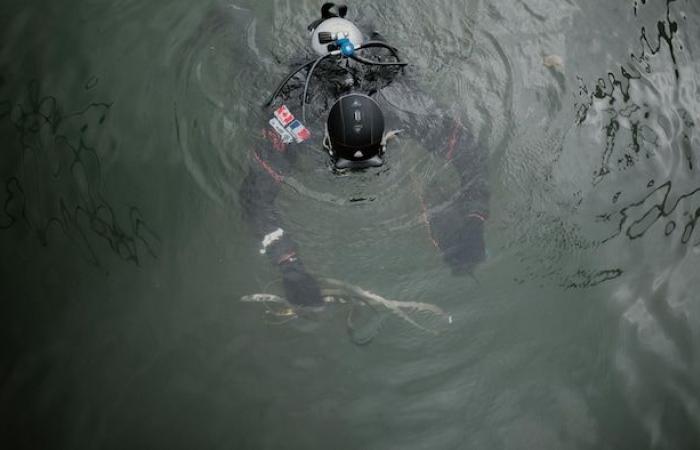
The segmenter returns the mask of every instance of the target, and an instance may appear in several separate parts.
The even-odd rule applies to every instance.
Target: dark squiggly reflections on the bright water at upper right
[[[678,22],[674,20],[671,10],[674,2],[675,0],[666,1],[665,17],[657,22],[657,34],[652,42],[646,28],[642,27],[641,51],[637,52],[638,56],[633,52],[631,62],[620,66],[619,78],[612,72],[608,73],[608,79],[598,79],[592,92],[589,92],[585,85],[581,85],[579,94],[584,101],[576,105],[577,125],[582,126],[586,123],[591,108],[597,108],[605,117],[597,118],[597,121],[605,123],[605,146],[600,166],[594,172],[594,184],[603,181],[614,170],[634,168],[640,158],[668,160],[668,153],[680,154],[685,161],[684,166],[673,168],[670,177],[679,178],[682,171],[692,174],[694,170],[694,157],[690,145],[695,128],[692,114],[685,109],[683,99],[674,101],[670,105],[671,108],[659,110],[660,99],[666,95],[661,89],[680,92],[684,83],[690,86],[694,86],[695,83],[693,72],[686,72],[684,77],[691,78],[685,80],[681,78],[678,69],[676,52],[683,50],[683,44],[677,39],[674,40],[678,33]],[[635,3],[635,15],[638,14],[639,7],[640,5]],[[643,73],[653,73],[653,57],[659,55],[662,46],[670,55],[675,80],[670,86],[654,87],[650,85],[653,79],[644,78]],[[639,71],[640,66],[643,72]],[[653,88],[654,91],[649,94],[649,89],[645,88]],[[632,89],[638,93],[632,95]],[[678,98],[678,95],[672,96]],[[658,222],[664,227],[666,236],[675,233],[680,222],[681,242],[687,244],[691,241],[700,216],[700,209],[695,209],[695,205],[699,203],[696,194],[700,192],[700,187],[696,185],[691,190],[685,190],[682,186],[674,191],[672,179],[658,187],[656,184],[654,179],[648,181],[646,190],[651,191],[641,200],[634,200],[622,207],[619,207],[619,204],[623,203],[620,201],[623,192],[618,191],[614,194],[612,204],[616,209],[598,216],[601,223],[610,223],[614,227],[614,232],[602,239],[601,243],[604,244],[620,235],[632,240],[641,238]],[[681,192],[677,192],[679,189]],[[626,196],[636,197],[632,193],[627,193]]]

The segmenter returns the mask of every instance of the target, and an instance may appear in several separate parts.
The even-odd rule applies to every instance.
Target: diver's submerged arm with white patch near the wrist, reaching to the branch
[[[284,229],[275,207],[275,199],[294,162],[294,154],[272,130],[266,130],[265,136],[263,145],[251,152],[250,170],[240,188],[243,214],[259,239],[260,253],[279,267],[287,300],[297,305],[320,305],[318,284],[304,268],[297,254],[296,242]]]

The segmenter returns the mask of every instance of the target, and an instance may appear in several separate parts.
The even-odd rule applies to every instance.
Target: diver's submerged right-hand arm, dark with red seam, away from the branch
[[[471,272],[485,259],[484,222],[488,215],[488,154],[458,120],[437,116],[413,136],[459,173],[460,188],[449,206],[426,211],[430,232],[455,273]]]

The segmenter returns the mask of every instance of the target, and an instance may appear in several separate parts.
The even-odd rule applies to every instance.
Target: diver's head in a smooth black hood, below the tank
[[[335,102],[324,146],[336,168],[379,167],[384,163],[384,144],[384,114],[377,102],[362,94],[348,94]]]

